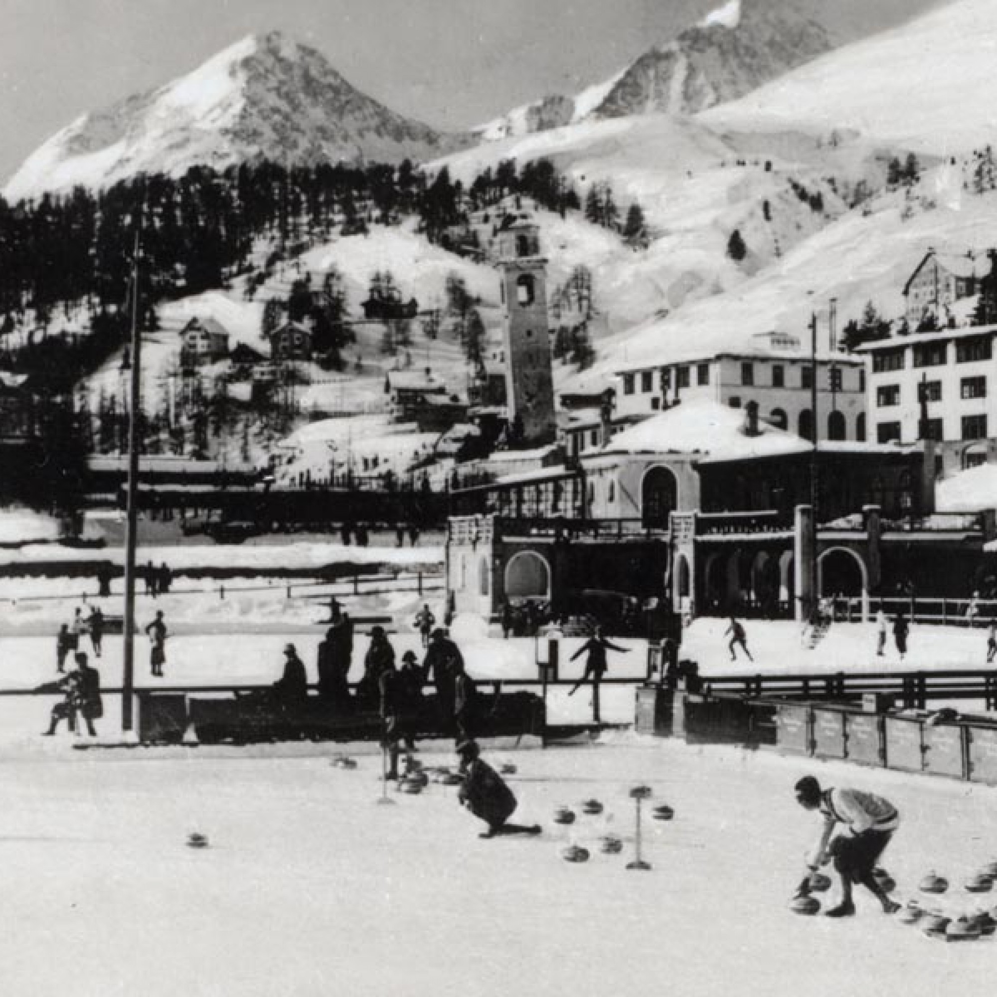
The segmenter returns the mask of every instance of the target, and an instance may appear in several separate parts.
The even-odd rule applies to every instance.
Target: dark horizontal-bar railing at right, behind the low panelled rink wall
[[[977,699],[997,709],[997,671],[835,672],[794,675],[703,676],[710,693],[789,699],[858,700],[868,693],[892,696],[905,708],[923,710],[934,700]]]

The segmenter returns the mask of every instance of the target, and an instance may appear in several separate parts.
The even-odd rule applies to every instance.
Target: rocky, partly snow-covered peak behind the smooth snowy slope
[[[832,48],[820,24],[771,0],[728,0],[667,45],[574,97],[545,97],[475,129],[487,141],[587,118],[695,114],[732,101]]]

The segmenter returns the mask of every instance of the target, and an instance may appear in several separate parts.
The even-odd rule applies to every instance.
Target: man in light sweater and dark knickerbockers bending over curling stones
[[[797,889],[797,896],[807,896],[811,876],[826,861],[833,860],[841,879],[841,901],[825,911],[829,917],[850,917],[855,912],[851,898],[852,883],[860,882],[878,901],[883,913],[892,914],[900,904],[891,899],[876,882],[873,874],[876,859],[882,854],[893,831],[899,827],[896,808],[882,797],[859,790],[822,790],[813,776],[805,776],[796,787],[797,802],[805,810],[820,811],[824,818],[821,837],[808,855],[807,875]],[[847,825],[849,833],[831,839],[835,825]]]

